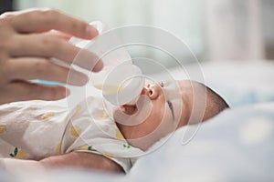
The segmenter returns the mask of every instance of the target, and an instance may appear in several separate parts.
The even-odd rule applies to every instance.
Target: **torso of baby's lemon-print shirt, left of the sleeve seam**
[[[27,101],[0,106],[0,157],[39,160],[60,154],[67,113],[60,102]]]

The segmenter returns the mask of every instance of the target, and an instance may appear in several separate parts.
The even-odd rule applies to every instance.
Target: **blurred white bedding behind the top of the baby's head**
[[[196,66],[186,66],[196,72]],[[274,61],[224,61],[201,64],[205,85],[223,96],[229,106],[244,106],[274,101]],[[185,76],[172,71],[174,78]]]

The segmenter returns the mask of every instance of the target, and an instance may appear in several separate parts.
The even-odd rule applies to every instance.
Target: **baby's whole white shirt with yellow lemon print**
[[[73,151],[111,158],[128,172],[143,154],[121,135],[102,99],[90,96],[68,112],[64,102],[0,106],[0,157],[39,160]]]

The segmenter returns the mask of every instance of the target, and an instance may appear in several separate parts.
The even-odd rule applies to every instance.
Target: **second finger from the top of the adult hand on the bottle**
[[[14,42],[16,44],[12,45],[11,56],[55,57],[69,65],[75,61],[75,65],[95,72],[102,68],[98,56],[53,35],[16,35]],[[78,59],[75,60],[78,54]]]

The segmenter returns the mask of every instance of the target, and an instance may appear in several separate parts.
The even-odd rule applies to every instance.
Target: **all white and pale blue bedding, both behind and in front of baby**
[[[205,84],[224,96],[232,109],[203,124],[188,145],[180,143],[184,127],[163,147],[139,159],[125,177],[69,170],[39,174],[39,180],[31,180],[30,174],[19,181],[274,181],[274,64],[202,67]],[[0,175],[0,181],[4,177]]]

